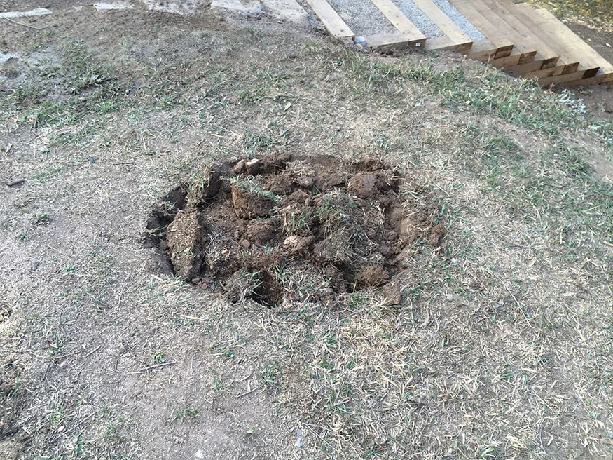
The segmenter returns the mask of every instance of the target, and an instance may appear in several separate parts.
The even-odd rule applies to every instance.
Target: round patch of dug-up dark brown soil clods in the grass
[[[174,273],[189,283],[267,306],[334,302],[383,287],[403,252],[441,243],[436,206],[374,159],[265,156],[213,165],[163,198],[147,222]]]

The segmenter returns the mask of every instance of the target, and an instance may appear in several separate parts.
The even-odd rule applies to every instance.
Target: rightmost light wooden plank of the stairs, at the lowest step
[[[613,72],[613,65],[545,8],[532,8],[528,4],[517,4],[515,7],[523,13],[523,17],[534,18],[533,22],[538,26],[535,33],[546,37],[551,47],[559,50],[565,60],[578,61],[589,68],[602,67],[605,74]]]

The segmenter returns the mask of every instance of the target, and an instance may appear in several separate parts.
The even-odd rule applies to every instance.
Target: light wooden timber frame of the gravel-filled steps
[[[327,0],[306,1],[331,35],[355,39]],[[375,50],[455,50],[511,75],[538,79],[543,86],[613,81],[613,65],[544,8],[514,4],[512,0],[449,0],[485,36],[473,42],[432,0],[413,3],[443,32],[436,38],[422,34],[392,0],[370,1],[397,30],[364,37],[367,46]]]

